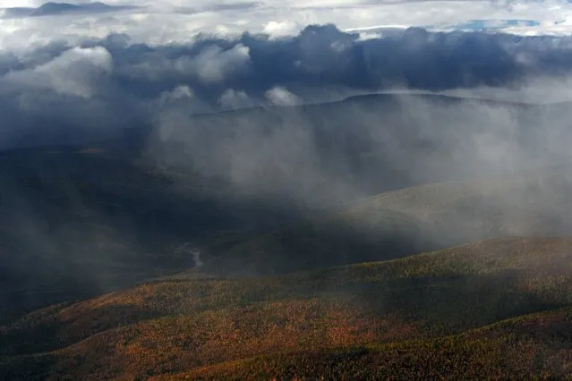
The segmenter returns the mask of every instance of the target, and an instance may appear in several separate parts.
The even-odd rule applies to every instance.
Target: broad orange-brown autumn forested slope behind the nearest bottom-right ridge
[[[294,275],[143,284],[5,327],[2,368],[9,376],[135,378],[459,334],[570,305],[571,259],[569,239],[507,239]]]

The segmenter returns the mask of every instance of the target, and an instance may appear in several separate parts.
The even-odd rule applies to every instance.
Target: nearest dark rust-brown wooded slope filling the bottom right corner
[[[294,351],[152,379],[570,379],[572,309],[444,338]]]

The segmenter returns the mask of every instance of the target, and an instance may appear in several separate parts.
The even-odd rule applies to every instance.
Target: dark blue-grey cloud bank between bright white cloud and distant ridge
[[[197,113],[315,102],[335,91],[345,97],[393,88],[517,89],[530,80],[568,75],[571,46],[572,38],[565,37],[416,28],[362,40],[333,25],[309,26],[294,38],[200,35],[187,45],[132,44],[121,34],[84,40],[79,47],[54,41],[26,54],[0,55],[1,146],[12,144],[13,131],[22,137],[42,124],[113,130],[149,123],[158,101],[164,104],[166,94],[184,88],[188,109]],[[77,120],[85,122],[76,126]]]

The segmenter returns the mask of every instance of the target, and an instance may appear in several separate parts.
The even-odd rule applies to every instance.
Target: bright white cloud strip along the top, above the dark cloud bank
[[[8,0],[4,6],[38,5],[36,0]],[[109,0],[107,4],[132,4]],[[312,23],[335,23],[341,30],[372,30],[388,26],[422,26],[450,30],[473,20],[535,21],[534,25],[507,24],[501,30],[516,34],[572,34],[572,4],[566,0],[371,1],[371,0],[260,0],[218,2],[163,0],[137,2],[137,9],[114,13],[62,15],[31,19],[0,19],[0,49],[17,49],[54,39],[75,43],[85,37],[123,32],[133,42],[163,45],[189,42],[197,33],[239,35],[265,32],[273,37],[294,35]],[[57,27],[55,28],[55,25]],[[373,32],[373,31],[372,31]]]

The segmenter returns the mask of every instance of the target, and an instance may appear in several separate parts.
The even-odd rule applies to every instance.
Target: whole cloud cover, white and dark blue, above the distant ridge
[[[432,31],[375,26],[383,18],[376,12],[405,10],[413,3],[293,4],[292,12],[320,15],[287,19],[294,23],[277,17],[290,11],[271,2],[137,8],[120,1],[110,4],[119,8],[81,17],[59,14],[0,21],[0,148],[101,140],[131,127],[159,126],[168,135],[175,126],[191,123],[193,114],[296,106],[375,92],[437,92],[533,103],[572,100],[572,37],[434,31],[438,19]],[[511,20],[541,6],[475,4],[471,6],[495,9],[495,17],[509,12]],[[415,4],[437,5],[448,13],[458,4]],[[568,9],[565,3],[544,2],[542,7]],[[249,18],[259,13],[266,16],[253,18],[260,21],[255,27]],[[358,13],[361,16],[355,16]],[[461,22],[453,13],[449,24]],[[468,16],[481,14],[477,13]],[[303,27],[315,20],[337,20],[333,14],[342,17],[340,25]],[[343,21],[352,14],[363,20]],[[368,15],[380,20],[366,22]],[[220,29],[203,30],[201,23],[183,22],[210,22],[211,17],[218,18]],[[395,20],[398,17],[396,13]],[[228,27],[230,20],[235,29]],[[55,22],[63,22],[64,28],[55,29]],[[500,27],[484,21],[482,25],[500,30],[523,27],[503,22]],[[155,29],[149,29],[151,24]],[[343,31],[347,27],[355,31]]]

